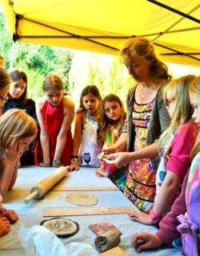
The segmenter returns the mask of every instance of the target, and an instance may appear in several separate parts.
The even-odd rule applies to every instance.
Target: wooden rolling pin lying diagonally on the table
[[[25,203],[30,202],[33,198],[42,198],[56,183],[58,183],[64,176],[66,176],[69,166],[61,166],[55,170],[50,176],[44,178],[42,182],[32,187],[30,195],[24,199]]]

